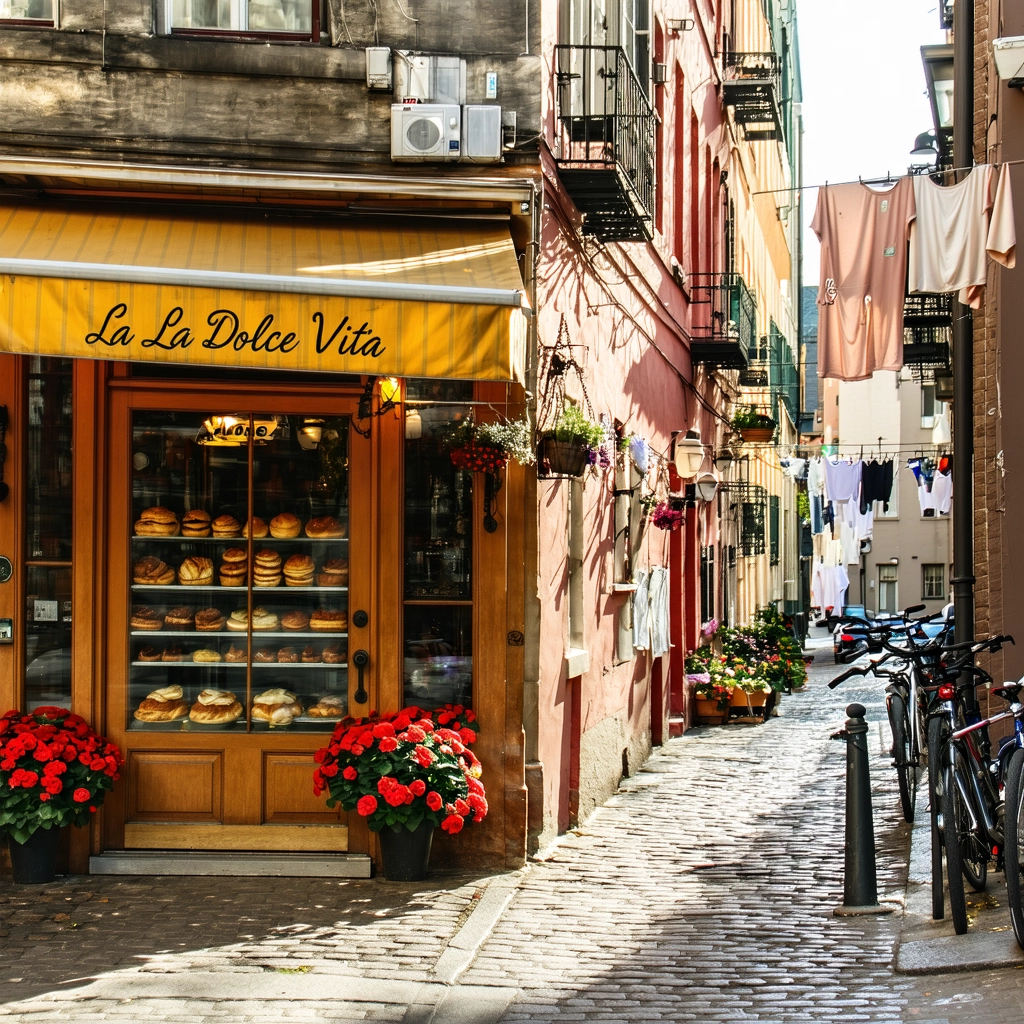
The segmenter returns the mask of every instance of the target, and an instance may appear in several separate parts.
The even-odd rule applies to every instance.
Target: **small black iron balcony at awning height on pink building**
[[[758,304],[738,273],[692,273],[690,357],[726,370],[746,369],[757,350]]]

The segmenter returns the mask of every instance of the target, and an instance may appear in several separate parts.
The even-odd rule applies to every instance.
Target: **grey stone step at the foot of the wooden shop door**
[[[373,876],[373,861],[365,853],[109,850],[89,858],[89,873],[369,879]]]

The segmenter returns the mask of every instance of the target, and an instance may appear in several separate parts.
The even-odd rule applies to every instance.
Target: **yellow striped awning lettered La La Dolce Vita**
[[[0,206],[0,351],[523,379],[508,228]]]

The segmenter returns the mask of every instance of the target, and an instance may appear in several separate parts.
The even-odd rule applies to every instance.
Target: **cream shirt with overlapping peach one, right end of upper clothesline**
[[[908,291],[958,291],[961,302],[980,309],[985,254],[1006,267],[1017,262],[1009,165],[996,175],[994,167],[981,164],[952,185],[914,175],[913,198]]]

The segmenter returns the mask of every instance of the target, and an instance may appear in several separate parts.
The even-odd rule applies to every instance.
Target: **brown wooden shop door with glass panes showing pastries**
[[[312,756],[376,698],[375,502],[337,394],[112,390],[108,847],[348,849]]]

